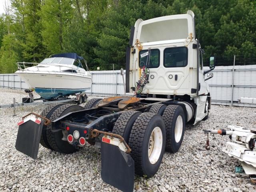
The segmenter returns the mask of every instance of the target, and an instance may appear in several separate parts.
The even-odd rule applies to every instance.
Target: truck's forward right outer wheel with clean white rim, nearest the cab
[[[168,105],[162,118],[166,128],[166,147],[168,152],[177,152],[182,144],[185,131],[185,116],[181,106]]]

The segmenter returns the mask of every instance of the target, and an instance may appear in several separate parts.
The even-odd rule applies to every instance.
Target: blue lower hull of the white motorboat
[[[35,91],[38,95],[40,95],[44,99],[52,99],[59,95],[69,96],[70,94],[84,92],[89,89],[90,88],[84,88],[84,89],[35,88]]]

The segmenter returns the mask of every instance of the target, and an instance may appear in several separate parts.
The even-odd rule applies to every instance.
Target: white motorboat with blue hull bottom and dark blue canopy
[[[18,62],[17,65],[15,74],[45,100],[85,92],[92,85],[86,60],[76,53],[55,54],[40,63]]]

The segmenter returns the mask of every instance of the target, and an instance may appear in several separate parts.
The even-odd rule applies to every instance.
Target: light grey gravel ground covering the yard
[[[24,96],[23,91],[0,89],[0,104]],[[0,191],[118,191],[102,181],[100,150],[93,147],[64,155],[40,146],[38,160],[16,151],[17,122],[28,112],[40,113],[44,107],[18,107],[17,116],[12,116],[12,108],[0,109]],[[221,151],[228,137],[210,136],[211,149],[206,151],[206,135],[202,131],[228,125],[255,128],[255,114],[256,108],[212,106],[208,120],[186,127],[179,152],[165,153],[154,177],[136,176],[134,190],[256,192],[248,176],[235,173],[240,162]]]

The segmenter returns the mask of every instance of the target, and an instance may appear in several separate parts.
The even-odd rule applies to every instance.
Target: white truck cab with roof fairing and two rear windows
[[[140,86],[139,94],[136,93],[139,97],[192,102],[196,124],[206,117],[205,111],[210,107],[202,54],[191,10],[187,14],[138,19],[131,29],[126,53],[126,92],[134,94]],[[143,86],[144,68],[148,76]],[[209,107],[205,110],[206,105]]]

